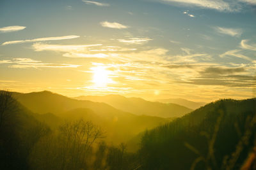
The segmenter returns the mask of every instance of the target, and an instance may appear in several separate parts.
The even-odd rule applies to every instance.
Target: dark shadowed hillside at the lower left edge
[[[0,91],[0,169],[29,169],[30,151],[50,131],[35,115]]]

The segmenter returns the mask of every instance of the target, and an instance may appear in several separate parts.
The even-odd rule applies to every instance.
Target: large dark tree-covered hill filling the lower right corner
[[[140,169],[240,169],[255,136],[256,98],[222,99],[145,132]]]

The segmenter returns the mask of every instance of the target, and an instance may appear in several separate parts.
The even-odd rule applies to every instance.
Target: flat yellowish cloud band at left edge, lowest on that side
[[[33,60],[29,58],[13,58],[12,60],[0,60],[0,64],[13,64],[9,67],[12,68],[39,68],[39,67],[51,67],[51,68],[76,68],[80,65],[75,64],[54,64],[54,63],[44,63],[40,60]]]

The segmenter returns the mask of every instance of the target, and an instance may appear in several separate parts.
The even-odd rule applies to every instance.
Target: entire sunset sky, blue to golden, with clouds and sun
[[[0,87],[255,97],[256,0],[1,0]]]

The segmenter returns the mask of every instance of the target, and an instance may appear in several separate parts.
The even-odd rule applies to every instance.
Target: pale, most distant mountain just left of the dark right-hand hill
[[[159,99],[157,101],[161,103],[179,104],[180,106],[185,106],[187,108],[191,108],[192,110],[196,110],[206,104],[204,102],[194,102],[194,101],[188,101],[186,99]]]

